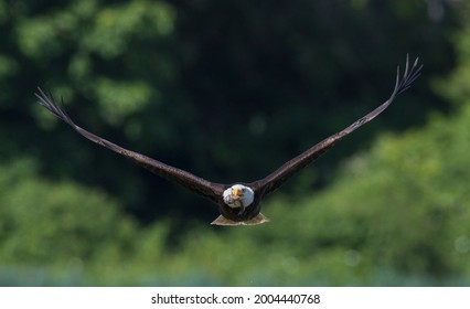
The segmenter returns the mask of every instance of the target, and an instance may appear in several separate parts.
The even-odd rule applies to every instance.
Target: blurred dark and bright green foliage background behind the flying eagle
[[[0,0],[0,285],[470,285],[470,3]],[[81,137],[212,181],[264,178],[423,75],[223,228],[209,200]]]

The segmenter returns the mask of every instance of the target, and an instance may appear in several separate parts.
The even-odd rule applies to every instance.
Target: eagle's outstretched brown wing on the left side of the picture
[[[54,102],[54,98],[51,94],[46,95],[41,88],[39,88],[39,93],[35,96],[39,98],[39,104],[47,108],[55,116],[64,120],[72,128],[74,128],[77,132],[86,137],[93,142],[96,142],[103,147],[106,147],[124,157],[135,161],[139,166],[150,170],[151,172],[173,182],[178,183],[200,195],[211,199],[214,202],[217,202],[223,194],[224,185],[220,183],[213,183],[206,181],[202,178],[199,178],[190,172],[180,170],[178,168],[168,166],[160,161],[153,160],[149,157],[140,154],[135,151],[127,150],[116,143],[113,143],[106,139],[103,139],[87,130],[78,127],[75,122],[68,117],[68,115],[62,110],[57,104]]]

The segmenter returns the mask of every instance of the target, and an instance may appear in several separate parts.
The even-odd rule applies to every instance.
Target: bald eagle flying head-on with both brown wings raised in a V
[[[371,121],[378,114],[385,110],[385,108],[391,105],[395,97],[406,90],[419,76],[421,67],[423,65],[418,66],[418,58],[416,58],[413,66],[409,67],[409,61],[407,56],[403,78],[399,78],[398,66],[395,87],[391,97],[385,103],[380,105],[364,117],[354,121],[345,129],[323,139],[307,151],[287,161],[266,178],[249,183],[241,182],[235,184],[211,182],[188,171],[168,166],[138,152],[127,150],[75,125],[68,115],[57,106],[56,102],[50,93],[45,94],[41,88],[38,88],[39,92],[35,93],[35,96],[39,98],[39,104],[68,124],[73,129],[75,129],[85,138],[132,160],[137,164],[167,179],[168,181],[180,184],[213,201],[215,204],[217,204],[221,215],[215,219],[212,224],[255,225],[269,221],[260,213],[260,202],[266,195],[273,193],[293,174],[318,159],[322,153],[331,148],[334,142],[351,134],[364,124]]]

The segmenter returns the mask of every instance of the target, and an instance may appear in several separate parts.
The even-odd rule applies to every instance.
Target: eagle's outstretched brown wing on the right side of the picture
[[[323,154],[328,149],[330,149],[333,143],[346,135],[351,134],[362,125],[374,119],[378,114],[385,110],[385,108],[391,105],[391,103],[395,99],[395,97],[406,90],[412,83],[419,76],[420,70],[423,65],[418,66],[418,58],[416,58],[412,68],[409,68],[408,55],[406,56],[406,67],[405,73],[403,74],[403,78],[399,78],[399,66],[397,67],[397,75],[395,82],[395,88],[391,95],[391,97],[383,103],[381,106],[356,120],[354,124],[343,129],[342,131],[330,136],[329,138],[320,141],[312,148],[308,149],[303,153],[297,156],[292,160],[286,162],[284,166],[278,168],[276,171],[267,175],[266,178],[249,183],[248,185],[260,193],[261,195],[268,194],[280,185],[282,185],[287,180],[289,180],[295,173],[307,167],[309,163],[318,159],[321,154]]]

